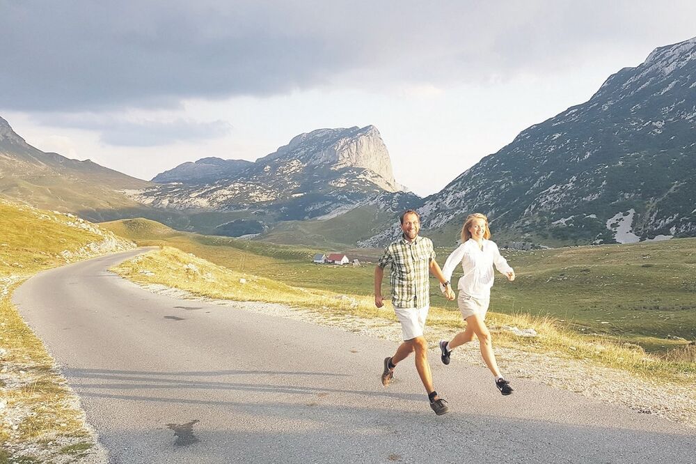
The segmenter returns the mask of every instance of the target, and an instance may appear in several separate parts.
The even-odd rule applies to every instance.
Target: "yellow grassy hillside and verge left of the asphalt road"
[[[72,215],[0,199],[0,462],[68,462],[95,438],[41,341],[13,307],[14,288],[58,265],[132,247]]]

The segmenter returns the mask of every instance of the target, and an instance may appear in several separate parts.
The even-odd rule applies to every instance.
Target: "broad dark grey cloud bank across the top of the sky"
[[[0,108],[177,108],[186,98],[487,82],[688,30],[693,1],[0,0]],[[675,39],[685,40],[690,37]],[[623,65],[623,63],[622,63]]]

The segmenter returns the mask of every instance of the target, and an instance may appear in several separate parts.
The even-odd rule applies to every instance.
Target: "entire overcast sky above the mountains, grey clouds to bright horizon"
[[[0,0],[0,116],[148,180],[373,124],[425,196],[695,17],[693,0]]]

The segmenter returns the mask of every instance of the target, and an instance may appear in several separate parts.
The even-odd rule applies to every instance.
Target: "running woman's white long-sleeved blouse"
[[[445,266],[442,268],[445,279],[452,279],[452,272],[454,272],[454,268],[459,263],[461,263],[461,268],[464,270],[464,275],[459,278],[457,288],[460,292],[464,292],[466,295],[474,298],[485,299],[491,296],[494,264],[496,269],[503,274],[512,271],[505,258],[500,256],[500,250],[496,242],[485,239],[483,240],[483,249],[479,248],[476,240],[473,238],[459,245],[448,256]]]

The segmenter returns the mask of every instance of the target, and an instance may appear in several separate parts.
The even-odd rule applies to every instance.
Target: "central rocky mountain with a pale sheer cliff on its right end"
[[[180,210],[248,210],[275,220],[302,220],[357,205],[383,192],[404,190],[394,179],[388,150],[372,125],[300,134],[248,167],[230,171],[224,179],[196,182],[157,185],[132,197]],[[254,227],[258,229],[258,224]]]

